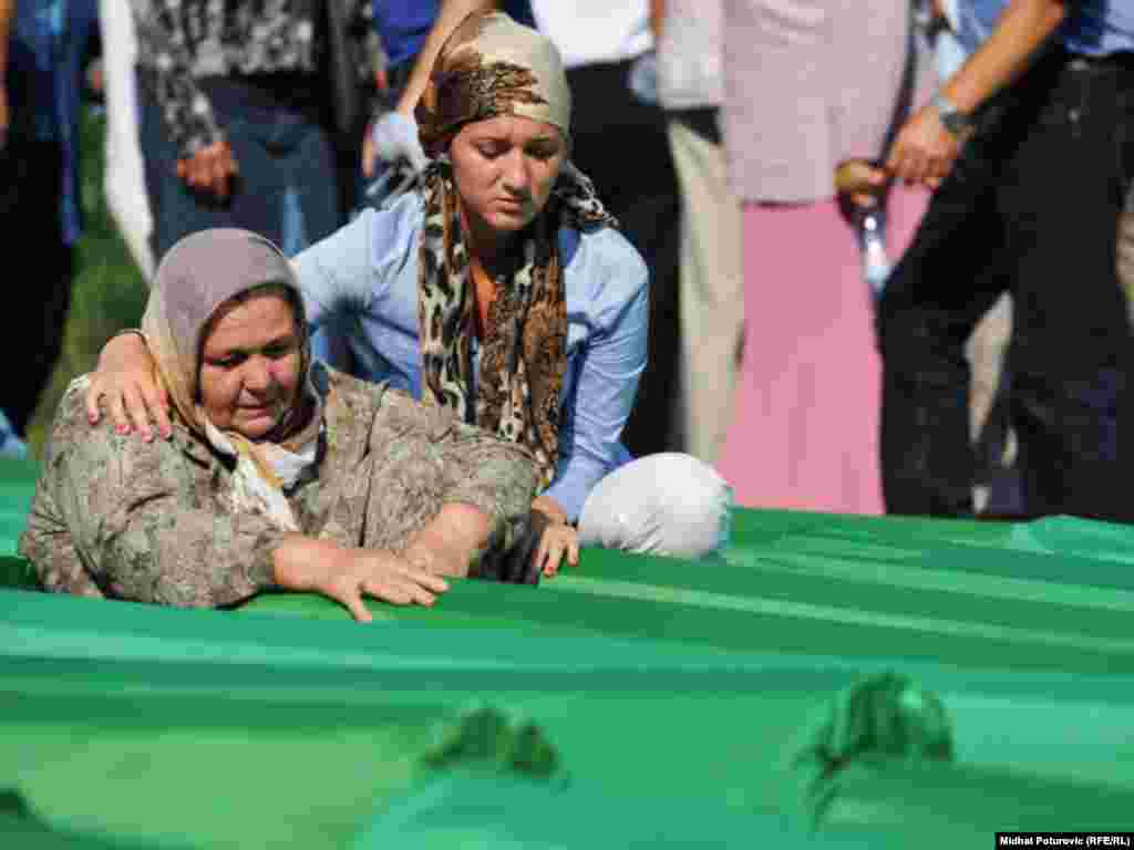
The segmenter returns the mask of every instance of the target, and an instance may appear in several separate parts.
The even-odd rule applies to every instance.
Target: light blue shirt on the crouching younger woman
[[[313,326],[344,332],[358,372],[422,394],[417,323],[424,204],[411,193],[353,222],[296,260]],[[619,442],[645,367],[648,273],[611,228],[559,231],[567,294],[559,464],[545,494],[577,519],[607,473],[629,459]],[[474,348],[474,359],[476,351]]]

